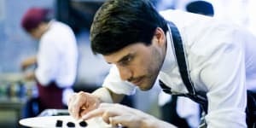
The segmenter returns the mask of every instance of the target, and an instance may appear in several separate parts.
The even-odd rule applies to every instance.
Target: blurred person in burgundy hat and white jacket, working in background
[[[39,40],[38,55],[22,62],[22,69],[37,64],[26,79],[36,79],[39,112],[46,108],[64,108],[73,93],[78,48],[72,29],[52,20],[49,9],[32,8],[22,17],[21,26]]]

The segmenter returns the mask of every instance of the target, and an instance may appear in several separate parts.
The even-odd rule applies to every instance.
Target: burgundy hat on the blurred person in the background
[[[21,20],[21,26],[30,32],[33,28],[38,27],[38,25],[44,20],[47,15],[47,9],[32,8],[26,11]]]

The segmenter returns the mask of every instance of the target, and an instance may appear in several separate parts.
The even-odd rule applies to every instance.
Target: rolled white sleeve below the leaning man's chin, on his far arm
[[[136,90],[136,86],[133,84],[122,81],[119,76],[118,68],[113,66],[108,73],[108,76],[103,82],[103,87],[107,87],[117,94],[133,95]]]

